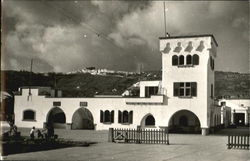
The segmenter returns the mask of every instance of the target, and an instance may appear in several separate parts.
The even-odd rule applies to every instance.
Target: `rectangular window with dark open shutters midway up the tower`
[[[175,97],[197,96],[197,83],[196,82],[175,82],[173,95]]]

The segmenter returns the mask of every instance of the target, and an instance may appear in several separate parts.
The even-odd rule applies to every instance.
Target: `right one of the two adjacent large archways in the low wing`
[[[72,129],[94,129],[94,119],[86,108],[79,108],[72,117]]]

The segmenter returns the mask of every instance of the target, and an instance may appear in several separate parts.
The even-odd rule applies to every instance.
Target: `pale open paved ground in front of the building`
[[[22,135],[28,135],[22,129]],[[226,147],[227,137],[219,135],[170,134],[170,145],[108,143],[107,131],[56,130],[59,136],[97,142],[89,147],[70,147],[8,155],[8,160],[124,160],[124,161],[250,161],[250,151]],[[246,131],[246,130],[243,130]]]

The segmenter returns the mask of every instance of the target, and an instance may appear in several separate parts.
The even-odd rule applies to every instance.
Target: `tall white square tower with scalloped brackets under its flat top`
[[[197,115],[201,128],[212,125],[214,115],[214,60],[218,46],[213,35],[160,37],[162,88],[168,106]],[[206,130],[202,132],[207,132]]]

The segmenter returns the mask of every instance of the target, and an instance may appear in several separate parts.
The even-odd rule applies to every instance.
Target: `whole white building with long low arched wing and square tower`
[[[214,102],[213,35],[161,37],[162,81],[140,82],[140,97],[62,98],[41,95],[40,88],[20,89],[15,96],[15,123],[67,129],[166,128],[209,133],[220,125]]]

